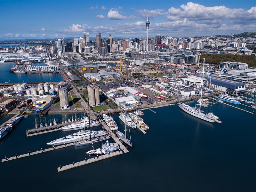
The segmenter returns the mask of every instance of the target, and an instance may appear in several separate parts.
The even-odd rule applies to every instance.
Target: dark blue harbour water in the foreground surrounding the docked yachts
[[[67,147],[0,163],[4,183],[1,191],[256,190],[255,115],[217,104],[204,109],[213,111],[222,121],[211,124],[189,116],[177,105],[153,110],[156,114],[144,110],[144,121],[150,127],[147,134],[131,130],[134,149],[129,153],[60,173],[59,165],[88,158],[85,152],[92,146]],[[118,115],[114,119],[123,129]],[[1,159],[48,148],[48,141],[70,134],[52,132],[26,137],[25,130],[34,126],[33,121],[34,116],[22,119],[0,141]]]

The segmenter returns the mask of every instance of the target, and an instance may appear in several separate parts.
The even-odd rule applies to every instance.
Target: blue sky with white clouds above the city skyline
[[[256,1],[0,1],[0,40],[209,36],[256,31]]]

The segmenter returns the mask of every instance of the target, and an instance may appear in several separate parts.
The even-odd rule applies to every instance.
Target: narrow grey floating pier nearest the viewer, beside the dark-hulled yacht
[[[114,156],[121,155],[121,154],[123,154],[123,152],[121,150],[119,150],[119,151],[109,153],[109,154],[106,154],[106,155],[93,157],[93,158],[88,159],[88,160],[85,159],[84,161],[79,161],[79,162],[76,162],[76,163],[73,162],[72,164],[69,164],[69,165],[60,166],[60,167],[57,168],[57,170],[58,170],[58,172],[61,172],[61,171],[65,171],[65,170],[72,169],[72,168],[75,168],[75,167],[79,167],[79,166],[82,166],[82,165],[90,164],[90,163],[93,163],[93,162],[96,162],[96,161],[100,161],[100,160],[107,159],[107,158],[114,157]]]

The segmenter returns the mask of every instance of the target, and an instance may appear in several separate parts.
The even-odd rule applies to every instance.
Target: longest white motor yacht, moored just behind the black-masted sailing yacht
[[[49,143],[46,143],[47,145],[62,145],[62,144],[68,144],[68,143],[72,143],[72,142],[76,142],[76,141],[81,141],[81,140],[86,140],[86,139],[90,139],[90,135],[91,138],[95,138],[95,137],[100,137],[100,136],[104,136],[107,135],[108,132],[105,131],[81,131],[81,132],[76,132],[73,133],[71,135],[68,135],[66,137],[62,137],[60,139],[56,139],[53,140]]]

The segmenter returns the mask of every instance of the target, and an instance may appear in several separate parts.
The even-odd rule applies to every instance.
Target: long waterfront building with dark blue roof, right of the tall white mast
[[[202,77],[200,75],[197,76]],[[247,91],[247,89],[245,88],[245,83],[233,81],[226,78],[212,76],[211,78],[207,79],[207,83],[210,84],[210,87],[212,87],[213,89],[224,92],[243,93]]]

